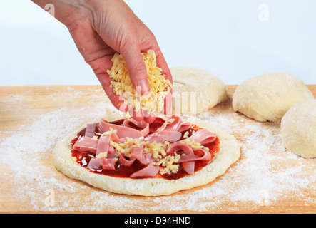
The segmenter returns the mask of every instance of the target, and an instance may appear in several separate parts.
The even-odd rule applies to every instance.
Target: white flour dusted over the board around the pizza
[[[19,210],[35,211],[117,211],[128,212],[212,212],[272,208],[273,202],[300,197],[305,206],[315,206],[316,161],[285,150],[280,126],[258,123],[238,113],[201,113],[209,121],[235,135],[241,157],[225,175],[210,185],[190,192],[162,197],[131,197],[97,190],[71,180],[52,165],[51,152],[58,140],[88,121],[95,113],[106,113],[111,105],[63,107],[21,126],[0,140],[0,167],[3,182],[19,183],[12,195],[21,202]],[[93,110],[93,112],[91,112]],[[47,190],[54,191],[53,204],[47,204]],[[81,196],[85,192],[84,197]]]

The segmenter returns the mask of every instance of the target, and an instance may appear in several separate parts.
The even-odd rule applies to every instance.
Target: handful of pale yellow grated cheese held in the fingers
[[[161,73],[162,69],[157,67],[156,53],[153,50],[141,54],[146,64],[151,91],[144,95],[137,93],[128,74],[126,62],[119,53],[114,54],[111,59],[113,66],[107,71],[112,78],[110,87],[113,88],[116,95],[120,95],[124,103],[132,105],[136,111],[146,110],[148,113],[157,115],[163,110],[164,98],[172,90],[172,84]]]

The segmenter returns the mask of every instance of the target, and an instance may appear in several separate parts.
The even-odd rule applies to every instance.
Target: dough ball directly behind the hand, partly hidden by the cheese
[[[198,115],[227,99],[223,81],[209,71],[195,67],[170,68],[173,76],[173,105],[170,112]]]

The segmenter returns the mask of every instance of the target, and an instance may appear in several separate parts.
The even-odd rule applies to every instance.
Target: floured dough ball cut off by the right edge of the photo
[[[281,120],[283,145],[302,157],[316,157],[316,100],[302,100]]]

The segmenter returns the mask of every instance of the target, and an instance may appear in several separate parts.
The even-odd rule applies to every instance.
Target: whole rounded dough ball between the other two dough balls
[[[307,86],[290,73],[273,72],[248,78],[233,94],[233,109],[260,122],[280,123],[300,100],[314,99]]]

